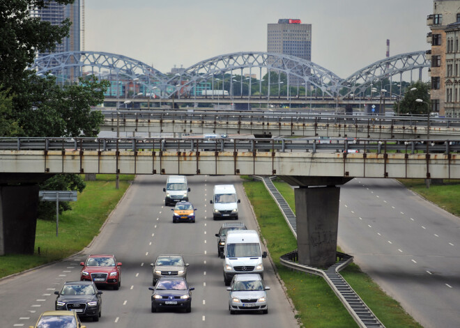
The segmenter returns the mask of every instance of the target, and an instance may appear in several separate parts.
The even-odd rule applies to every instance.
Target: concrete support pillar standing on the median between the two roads
[[[300,264],[329,267],[335,263],[339,225],[339,187],[294,189]]]

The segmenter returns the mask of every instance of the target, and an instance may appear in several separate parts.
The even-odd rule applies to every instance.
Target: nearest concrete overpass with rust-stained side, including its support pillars
[[[209,148],[214,151],[204,151]],[[362,153],[349,153],[352,148]],[[447,141],[414,140],[0,138],[0,253],[33,252],[36,183],[54,174],[278,175],[299,186],[297,212],[314,227],[298,235],[303,264],[325,267],[335,262],[337,185],[353,177],[460,178],[459,150]]]

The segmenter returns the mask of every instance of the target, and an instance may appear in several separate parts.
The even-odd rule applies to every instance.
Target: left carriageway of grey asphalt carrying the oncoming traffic
[[[29,327],[41,312],[54,309],[54,290],[64,281],[79,280],[79,262],[89,253],[114,253],[123,263],[120,290],[101,288],[102,318],[84,320],[87,327],[298,327],[293,310],[268,258],[264,276],[268,314],[230,315],[229,292],[224,286],[222,259],[217,257],[217,237],[222,221],[213,221],[209,200],[216,184],[236,185],[240,220],[256,228],[240,179],[232,176],[188,178],[190,201],[197,210],[195,224],[172,223],[164,207],[162,188],[166,176],[138,176],[109,217],[100,235],[83,253],[0,281],[0,327]],[[150,263],[161,253],[181,253],[190,263],[187,281],[195,288],[192,313],[151,313]]]

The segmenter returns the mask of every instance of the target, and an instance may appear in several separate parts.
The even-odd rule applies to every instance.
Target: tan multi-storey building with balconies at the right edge
[[[460,1],[433,1],[433,14],[428,15],[431,32],[431,111],[439,116],[460,117]]]

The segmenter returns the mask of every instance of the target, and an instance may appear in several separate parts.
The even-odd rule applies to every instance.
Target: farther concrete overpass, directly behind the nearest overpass
[[[427,117],[321,115],[284,111],[111,111],[101,131],[169,134],[254,134],[337,138],[427,138]],[[460,120],[431,118],[431,139],[460,139]]]

